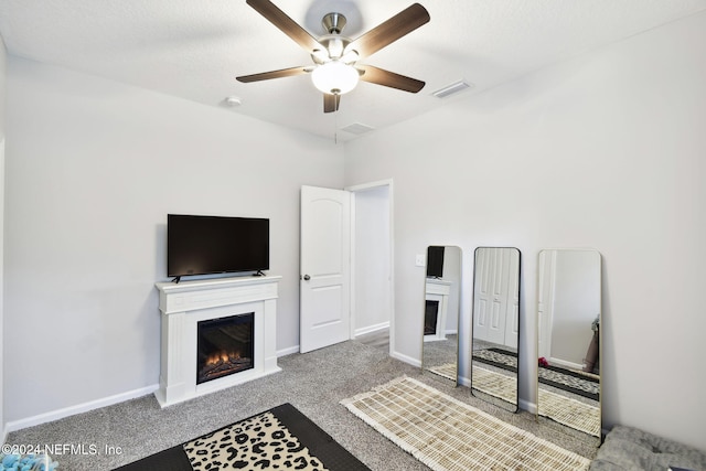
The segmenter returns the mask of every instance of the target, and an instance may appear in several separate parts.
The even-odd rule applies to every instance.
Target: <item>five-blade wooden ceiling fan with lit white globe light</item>
[[[246,2],[310,53],[314,64],[242,75],[236,77],[238,82],[259,82],[310,73],[314,86],[323,93],[323,113],[338,111],[341,95],[352,90],[359,79],[409,93],[417,93],[425,85],[416,78],[357,63],[426,24],[430,20],[429,12],[419,3],[414,3],[351,41],[341,35],[345,26],[345,17],[340,13],[328,13],[323,17],[322,24],[327,34],[315,39],[271,1]]]

